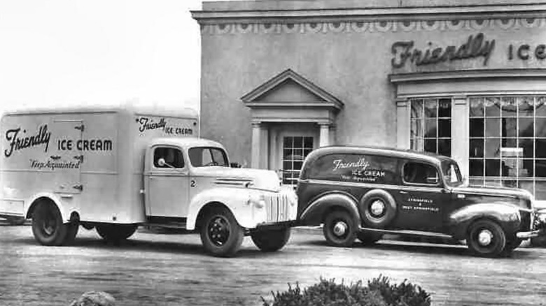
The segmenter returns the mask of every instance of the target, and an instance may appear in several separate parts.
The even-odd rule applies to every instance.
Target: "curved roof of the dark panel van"
[[[391,147],[373,147],[373,146],[349,146],[349,145],[332,145],[328,147],[320,147],[314,150],[307,156],[309,161],[314,161],[320,156],[329,154],[371,154],[380,156],[391,156],[399,159],[410,159],[417,161],[426,161],[428,163],[439,164],[442,161],[454,161],[453,159],[433,154],[430,152],[419,152],[415,150],[402,150]]]

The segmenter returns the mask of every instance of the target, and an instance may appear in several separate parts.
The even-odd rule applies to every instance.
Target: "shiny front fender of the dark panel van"
[[[465,239],[468,226],[477,219],[496,221],[507,233],[515,233],[521,224],[519,207],[511,203],[478,203],[461,207],[449,214],[449,228],[454,238]]]

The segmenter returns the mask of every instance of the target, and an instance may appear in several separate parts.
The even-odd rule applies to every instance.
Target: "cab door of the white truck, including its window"
[[[178,147],[156,146],[146,173],[146,214],[148,217],[187,217],[189,170]],[[160,165],[160,159],[165,165]]]

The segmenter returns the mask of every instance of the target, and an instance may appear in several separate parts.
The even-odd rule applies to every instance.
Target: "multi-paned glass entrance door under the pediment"
[[[313,150],[313,138],[290,136],[283,138],[283,184],[296,185],[303,160]]]

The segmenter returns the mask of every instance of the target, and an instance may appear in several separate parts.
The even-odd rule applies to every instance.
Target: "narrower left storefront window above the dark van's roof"
[[[413,150],[451,156],[451,99],[413,99]]]

